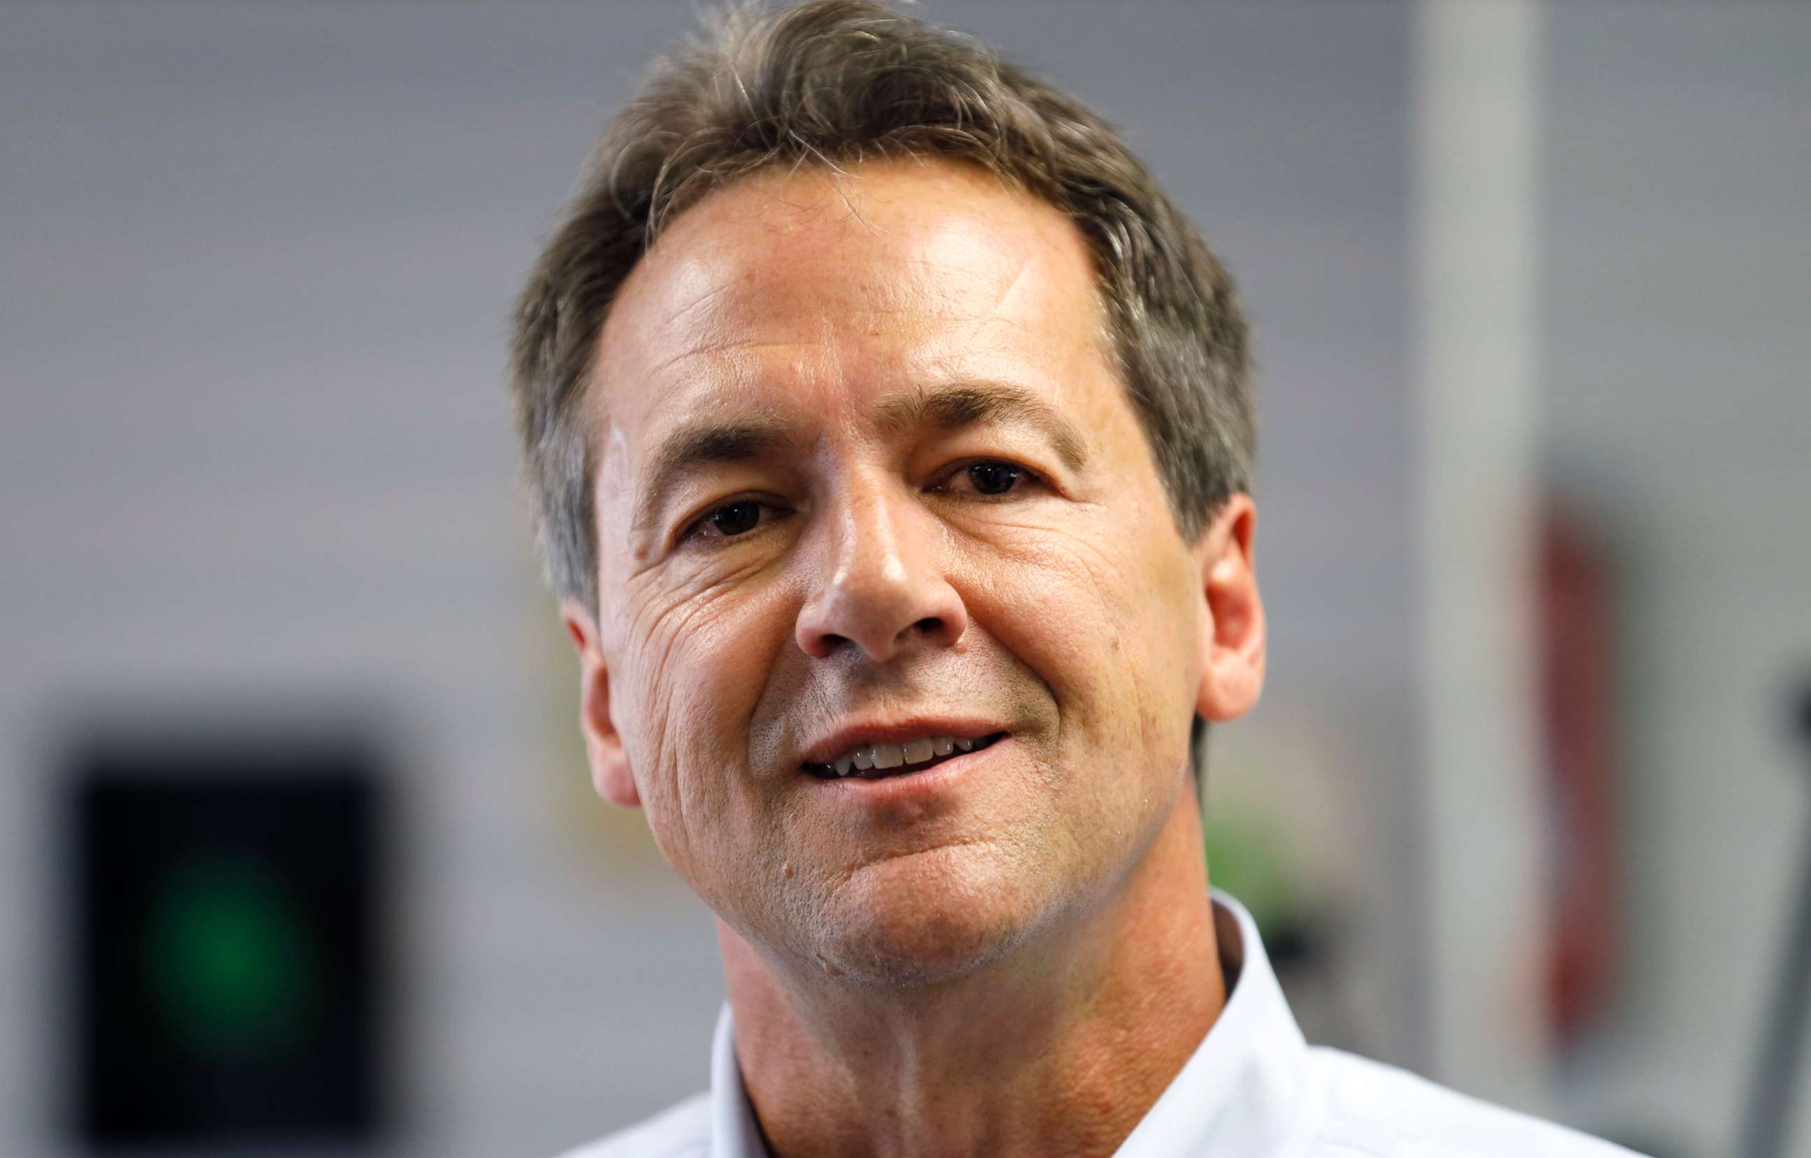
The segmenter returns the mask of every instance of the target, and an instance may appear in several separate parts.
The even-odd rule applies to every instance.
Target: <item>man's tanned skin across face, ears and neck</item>
[[[590,400],[592,776],[717,914],[773,1153],[1110,1154],[1224,1004],[1188,731],[1264,613],[1248,496],[1177,532],[1081,235],[956,163],[757,174]],[[804,769],[875,729],[1000,738]]]

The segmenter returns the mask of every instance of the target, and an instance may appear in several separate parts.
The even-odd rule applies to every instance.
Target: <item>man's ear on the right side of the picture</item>
[[[1257,505],[1235,494],[1195,541],[1206,615],[1201,622],[1201,688],[1195,713],[1233,720],[1264,691],[1264,603],[1257,593],[1251,537]]]

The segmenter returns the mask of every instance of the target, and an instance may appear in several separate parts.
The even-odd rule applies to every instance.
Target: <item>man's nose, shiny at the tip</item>
[[[915,644],[951,648],[969,612],[940,563],[936,517],[886,485],[826,510],[819,579],[799,610],[799,648],[813,659],[860,648],[887,662]]]

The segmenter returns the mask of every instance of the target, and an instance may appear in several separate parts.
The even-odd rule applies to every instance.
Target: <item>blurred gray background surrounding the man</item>
[[[1811,668],[1811,5],[916,11],[1125,125],[1242,286],[1271,668],[1215,735],[1208,809],[1315,930],[1309,1035],[1728,1153],[1811,818],[1784,726]],[[708,914],[589,793],[503,396],[538,241],[690,24],[654,2],[0,5],[0,1153],[78,1153],[58,776],[96,729],[382,736],[380,1153],[552,1154],[703,1087]],[[1478,132],[1442,127],[1469,109]],[[1550,899],[1547,773],[1516,758],[1539,722],[1519,693],[1452,711],[1431,635],[1481,559],[1442,548],[1460,492],[1452,443],[1429,445],[1469,385],[1438,351],[1501,322],[1443,290],[1469,270],[1440,174],[1505,156],[1492,221],[1525,264],[1498,337],[1521,369],[1490,389],[1519,418],[1467,436],[1510,463],[1505,510],[1561,496],[1615,579],[1619,968],[1565,1040],[1528,1039],[1516,961],[1539,946],[1490,919]],[[1492,637],[1496,610],[1465,606]],[[1467,729],[1521,812],[1451,803]],[[1527,896],[1483,888],[1505,879]],[[1480,959],[1501,975],[1454,964]]]

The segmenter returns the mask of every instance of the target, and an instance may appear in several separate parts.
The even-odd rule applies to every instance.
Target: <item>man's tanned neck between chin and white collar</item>
[[[934,992],[786,977],[719,939],[777,1158],[1112,1154],[1226,1004],[1193,793],[1108,903]]]

